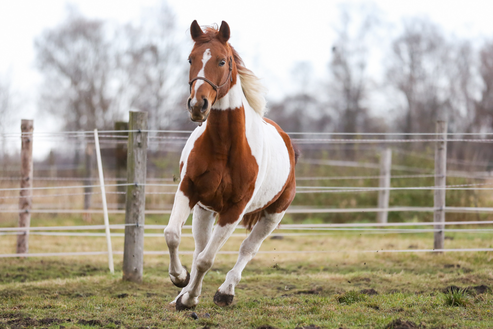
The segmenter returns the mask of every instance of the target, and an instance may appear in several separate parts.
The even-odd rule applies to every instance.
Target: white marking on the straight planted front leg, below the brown
[[[197,256],[195,261],[195,274],[190,277],[190,283],[187,287],[187,292],[183,294],[181,302],[188,307],[197,305],[198,296],[202,290],[202,280],[206,272],[212,267],[214,263],[214,258],[221,249],[221,247],[226,243],[228,238],[234,232],[235,227],[238,225],[240,220],[243,218],[242,214],[233,224],[227,224],[225,226],[215,225],[212,231],[212,237],[209,240],[206,248]]]

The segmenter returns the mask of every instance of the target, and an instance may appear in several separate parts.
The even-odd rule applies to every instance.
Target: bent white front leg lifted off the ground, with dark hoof
[[[181,241],[181,227],[190,215],[190,200],[183,194],[178,186],[175,195],[175,203],[171,211],[170,221],[164,229],[164,237],[170,251],[170,278],[176,287],[186,287],[190,281],[190,274],[181,265],[178,258],[178,245]]]

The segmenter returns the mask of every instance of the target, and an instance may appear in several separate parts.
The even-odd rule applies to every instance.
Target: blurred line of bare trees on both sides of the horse
[[[450,37],[425,17],[389,28],[372,6],[340,9],[326,77],[314,81],[310,63],[297,63],[297,91],[268,104],[267,116],[285,131],[429,133],[438,117],[448,119],[451,132],[492,131],[493,39]],[[390,30],[400,32],[388,42]],[[147,111],[151,129],[193,128],[184,105],[189,45],[176,32],[165,3],[128,24],[70,9],[35,39],[44,77],[40,110],[66,130],[112,128],[128,110]],[[370,70],[375,52],[379,77]],[[473,157],[479,147],[464,146],[453,146],[458,157]]]

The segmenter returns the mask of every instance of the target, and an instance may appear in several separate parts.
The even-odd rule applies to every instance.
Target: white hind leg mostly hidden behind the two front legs
[[[192,235],[195,240],[195,251],[193,252],[192,269],[190,270],[190,277],[193,278],[197,271],[197,256],[206,248],[207,243],[211,239],[212,226],[214,225],[215,213],[206,210],[199,205],[193,208],[192,217]],[[187,286],[188,287],[188,286]],[[182,294],[187,291],[187,287],[184,287],[181,292],[176,296],[175,300],[171,304],[176,303]]]

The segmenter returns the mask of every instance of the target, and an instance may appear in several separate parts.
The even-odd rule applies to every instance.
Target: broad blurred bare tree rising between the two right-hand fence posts
[[[387,66],[388,82],[405,99],[404,116],[398,119],[403,132],[434,131],[436,118],[450,111],[448,52],[442,32],[428,19],[404,21]]]

